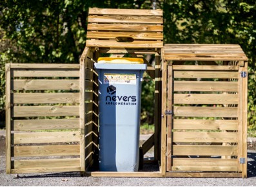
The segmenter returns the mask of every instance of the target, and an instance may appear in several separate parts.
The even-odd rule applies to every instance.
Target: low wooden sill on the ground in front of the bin
[[[161,172],[86,172],[92,177],[162,177]]]

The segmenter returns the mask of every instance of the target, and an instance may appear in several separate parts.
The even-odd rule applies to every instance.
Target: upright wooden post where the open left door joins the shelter
[[[90,71],[92,72],[92,71]],[[80,113],[80,167],[81,167],[81,172],[85,172],[85,168],[86,168],[86,165],[85,165],[85,162],[84,162],[84,157],[85,157],[85,150],[84,150],[84,147],[85,147],[85,143],[84,143],[84,130],[85,130],[85,93],[84,93],[84,90],[85,90],[85,78],[87,73],[85,71],[85,65],[83,62],[80,63],[80,93],[79,93],[79,99],[80,99],[80,107],[79,107],[79,113]],[[92,96],[91,96],[92,97]],[[89,96],[90,98],[90,96]]]

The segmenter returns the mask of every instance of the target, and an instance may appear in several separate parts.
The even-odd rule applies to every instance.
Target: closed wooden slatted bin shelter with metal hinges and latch
[[[166,177],[246,177],[247,67],[239,45],[165,44]]]

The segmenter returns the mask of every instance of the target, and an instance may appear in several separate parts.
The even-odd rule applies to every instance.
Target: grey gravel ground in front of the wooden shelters
[[[5,146],[3,146],[4,143],[5,143],[5,137],[0,136],[0,186],[255,186],[256,185],[256,151],[255,150],[248,150],[248,178],[247,179],[80,177],[80,174],[77,172],[55,173],[55,174],[20,174],[17,177],[17,175],[5,174]],[[250,145],[248,145],[248,148],[250,148]]]

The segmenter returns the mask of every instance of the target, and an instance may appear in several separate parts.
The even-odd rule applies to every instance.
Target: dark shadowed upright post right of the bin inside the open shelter
[[[159,53],[155,53],[155,110],[154,110],[154,123],[155,123],[155,137],[154,137],[154,157],[155,161],[159,161],[159,137],[161,124],[161,59]]]

